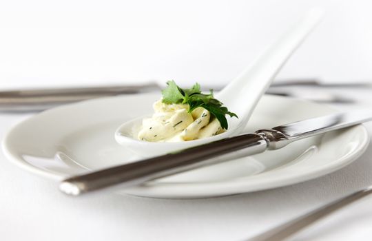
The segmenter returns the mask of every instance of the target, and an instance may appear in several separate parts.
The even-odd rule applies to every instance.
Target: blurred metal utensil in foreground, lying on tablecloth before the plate
[[[260,235],[256,235],[254,238],[250,238],[247,241],[278,241],[284,240],[285,238],[289,238],[290,236],[298,233],[305,227],[309,227],[309,225],[313,224],[314,222],[328,216],[329,214],[342,209],[365,196],[372,194],[372,186],[367,187],[364,189],[360,189],[359,191],[355,191],[354,193],[349,194],[348,196],[344,196],[335,200],[327,205],[319,207],[309,213],[305,213],[302,216],[285,222],[284,224],[280,224],[278,227],[265,231]]]

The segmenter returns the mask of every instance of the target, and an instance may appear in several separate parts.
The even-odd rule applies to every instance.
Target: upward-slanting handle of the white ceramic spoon
[[[269,45],[246,70],[216,95],[232,112],[238,114],[240,127],[245,126],[273,78],[321,18],[322,10],[313,9],[307,12],[296,25]]]

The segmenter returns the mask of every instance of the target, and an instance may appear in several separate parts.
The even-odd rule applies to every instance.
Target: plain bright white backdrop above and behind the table
[[[313,7],[327,17],[280,77],[371,78],[368,0],[16,0],[0,1],[0,87],[226,83]]]

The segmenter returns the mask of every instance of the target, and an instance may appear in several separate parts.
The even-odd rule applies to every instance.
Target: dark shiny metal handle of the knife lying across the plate
[[[59,188],[64,193],[77,196],[106,187],[130,187],[189,169],[258,154],[266,149],[267,141],[263,136],[242,134],[172,154],[74,176],[63,180]]]

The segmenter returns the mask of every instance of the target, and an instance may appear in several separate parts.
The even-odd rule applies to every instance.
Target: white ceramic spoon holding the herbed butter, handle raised
[[[273,78],[289,59],[289,56],[317,25],[321,17],[321,10],[309,11],[294,28],[269,46],[252,65],[216,94],[218,100],[222,101],[231,112],[239,116],[239,118],[229,118],[227,132],[209,138],[180,143],[152,143],[137,140],[136,136],[141,129],[142,120],[151,116],[149,114],[148,116],[135,118],[118,127],[115,133],[116,141],[141,156],[156,156],[239,134],[247,125],[251,113]]]

